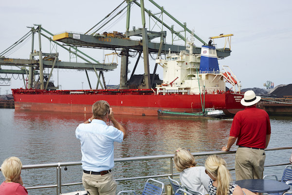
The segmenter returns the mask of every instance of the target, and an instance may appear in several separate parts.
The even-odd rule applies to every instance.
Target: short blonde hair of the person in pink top
[[[22,163],[18,157],[6,158],[1,165],[1,172],[7,181],[17,182],[21,173]]]

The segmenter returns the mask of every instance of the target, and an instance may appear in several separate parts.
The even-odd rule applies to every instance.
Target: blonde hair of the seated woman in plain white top
[[[175,168],[182,172],[184,169],[196,166],[197,163],[189,150],[185,148],[178,148],[174,152],[174,164]]]

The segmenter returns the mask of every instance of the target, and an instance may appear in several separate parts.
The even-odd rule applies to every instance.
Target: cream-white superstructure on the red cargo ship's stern
[[[171,53],[169,50],[166,59],[156,59],[163,67],[163,83],[157,85],[157,93],[180,93],[180,94],[217,94],[225,92],[225,80],[236,81],[234,88],[239,81],[228,73],[217,70],[200,71],[201,56],[208,56],[217,60],[216,49],[202,48],[201,55],[193,54],[193,45],[187,51],[180,51],[179,54]],[[208,60],[207,60],[208,61]],[[227,67],[227,66],[225,66]],[[225,75],[224,75],[225,74]],[[234,90],[234,89],[233,89]]]

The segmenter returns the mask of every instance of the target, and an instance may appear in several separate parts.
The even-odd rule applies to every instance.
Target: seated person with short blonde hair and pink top
[[[22,163],[18,157],[9,157],[1,165],[5,181],[0,185],[0,195],[28,195],[20,176]]]

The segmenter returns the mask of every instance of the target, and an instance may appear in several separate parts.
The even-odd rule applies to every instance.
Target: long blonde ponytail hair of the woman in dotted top
[[[226,168],[226,161],[221,157],[211,155],[205,161],[205,168],[218,182],[216,195],[227,195],[231,176]]]

